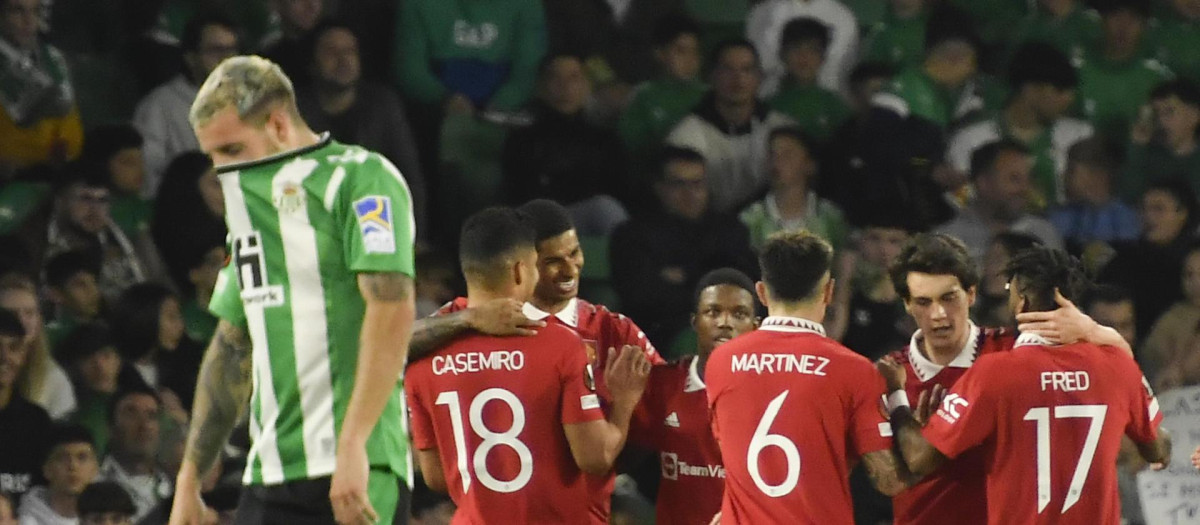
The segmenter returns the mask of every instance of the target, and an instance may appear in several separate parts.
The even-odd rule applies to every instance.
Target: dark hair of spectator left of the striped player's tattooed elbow
[[[113,340],[121,357],[134,362],[158,346],[158,312],[175,294],[158,283],[138,283],[116,298],[112,310]]]

